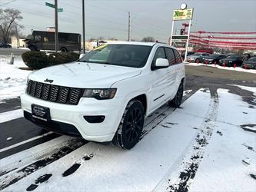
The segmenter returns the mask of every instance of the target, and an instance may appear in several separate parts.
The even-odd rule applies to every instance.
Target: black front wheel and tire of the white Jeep
[[[129,101],[112,143],[123,149],[131,149],[138,143],[144,125],[144,108],[141,101]]]

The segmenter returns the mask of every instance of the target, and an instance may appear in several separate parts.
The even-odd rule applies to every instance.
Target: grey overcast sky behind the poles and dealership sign
[[[81,34],[81,1],[58,0],[58,8],[64,9],[58,13],[59,31]],[[54,4],[54,0],[0,0],[0,8],[22,12],[22,33],[28,35],[32,29],[46,30],[55,25],[54,8],[45,2]],[[131,12],[131,39],[152,36],[166,42],[171,35],[172,12],[182,2],[194,8],[192,31],[256,31],[256,0],[85,0],[86,39],[102,36],[127,40]],[[177,22],[177,33],[180,28],[181,22]]]

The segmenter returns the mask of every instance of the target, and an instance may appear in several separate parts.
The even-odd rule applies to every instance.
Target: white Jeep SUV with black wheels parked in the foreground
[[[185,66],[175,48],[120,42],[30,74],[22,109],[48,130],[130,149],[148,114],[167,101],[181,104],[184,86]]]

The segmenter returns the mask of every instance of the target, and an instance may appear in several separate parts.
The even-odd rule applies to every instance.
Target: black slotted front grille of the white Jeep
[[[61,104],[78,104],[83,91],[82,88],[68,88],[32,80],[28,81],[26,90],[32,97]]]

